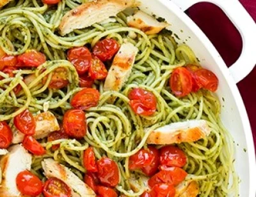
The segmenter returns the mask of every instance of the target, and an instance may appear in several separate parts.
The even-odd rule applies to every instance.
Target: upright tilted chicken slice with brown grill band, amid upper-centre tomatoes
[[[121,45],[108,71],[104,91],[120,91],[122,89],[131,74],[137,53],[138,48],[131,43]]]

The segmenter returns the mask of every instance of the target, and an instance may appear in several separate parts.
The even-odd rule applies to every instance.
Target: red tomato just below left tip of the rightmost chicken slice
[[[129,169],[130,170],[136,170],[138,168],[143,168],[145,166],[150,166],[150,164],[153,163],[153,161],[155,160],[155,155],[154,152],[155,148],[154,147],[148,147],[147,149],[140,149],[138,152],[136,152],[136,154],[132,155],[129,158]],[[159,159],[159,157],[157,158]]]

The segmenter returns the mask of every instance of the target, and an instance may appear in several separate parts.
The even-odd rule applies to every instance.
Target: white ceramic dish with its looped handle
[[[255,197],[256,164],[252,130],[243,100],[236,86],[236,83],[246,77],[256,64],[254,50],[256,43],[255,22],[237,0],[207,0],[223,8],[241,32],[243,38],[241,57],[228,69],[220,54],[218,54],[205,34],[183,13],[183,10],[202,0],[173,0],[173,2],[170,0],[140,1],[142,3],[141,10],[165,18],[171,24],[173,33],[179,35],[180,42],[186,41],[189,47],[194,50],[202,66],[211,69],[218,75],[220,87],[217,94],[222,106],[221,120],[235,141],[235,166],[241,180],[239,196]],[[255,85],[248,87],[248,89],[253,91]]]

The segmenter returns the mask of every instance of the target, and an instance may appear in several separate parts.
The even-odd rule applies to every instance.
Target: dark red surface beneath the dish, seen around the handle
[[[256,21],[256,1],[240,0],[240,2]],[[210,3],[199,3],[189,8],[188,15],[195,21],[202,31],[204,31],[209,40],[212,41],[228,66],[236,62],[241,54],[243,42],[236,27],[233,26],[220,8]],[[256,105],[254,101],[256,97],[255,84],[256,68],[253,69],[252,73],[250,73],[248,77],[239,82],[237,86],[243,97],[244,105],[246,106],[256,145]]]

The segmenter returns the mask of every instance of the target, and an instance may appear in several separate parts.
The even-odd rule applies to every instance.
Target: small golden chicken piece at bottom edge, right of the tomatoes
[[[196,197],[199,193],[199,185],[195,180],[183,181],[175,188],[175,197]]]

